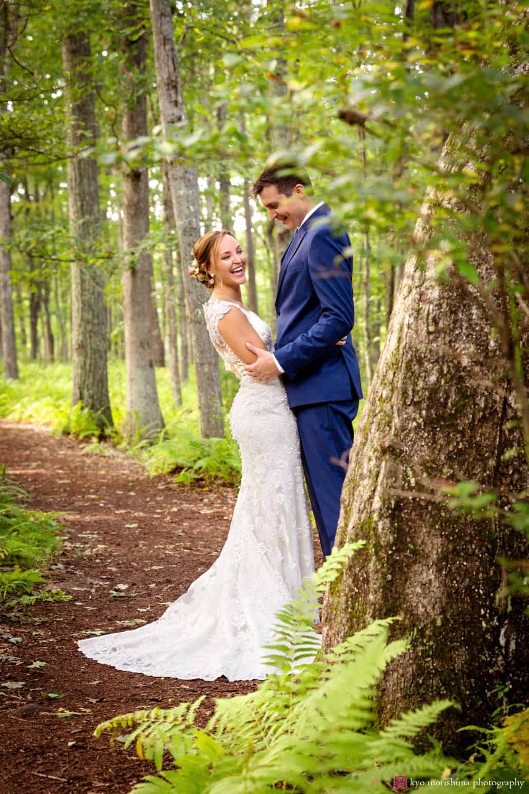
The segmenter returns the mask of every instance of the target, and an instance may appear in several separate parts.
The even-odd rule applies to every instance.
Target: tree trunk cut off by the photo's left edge
[[[0,113],[7,113],[6,102],[2,102],[2,94],[6,93],[6,79],[9,74],[8,47],[17,37],[17,21],[13,6],[2,3],[0,9],[0,64],[2,64],[2,80],[0,80]],[[11,242],[11,188],[6,174],[8,152],[0,151],[0,240]],[[11,252],[0,245],[0,327],[2,328],[2,358],[5,378],[18,378],[17,343],[15,337],[15,321],[13,313],[13,287],[10,278]]]

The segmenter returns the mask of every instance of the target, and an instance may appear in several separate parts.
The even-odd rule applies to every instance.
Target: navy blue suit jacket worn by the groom
[[[282,257],[275,357],[285,370],[290,407],[362,397],[350,337],[355,324],[351,242],[330,228],[330,212],[324,204],[307,218]],[[336,346],[345,336],[346,344]]]

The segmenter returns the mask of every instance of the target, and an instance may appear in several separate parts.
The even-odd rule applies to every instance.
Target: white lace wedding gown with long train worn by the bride
[[[209,336],[240,380],[230,426],[243,474],[228,538],[212,567],[147,626],[78,642],[87,657],[148,676],[214,680],[264,679],[263,646],[274,615],[314,570],[312,530],[301,474],[297,425],[281,381],[259,383],[218,330],[236,304],[209,300]],[[267,349],[270,328],[250,310],[248,320]]]

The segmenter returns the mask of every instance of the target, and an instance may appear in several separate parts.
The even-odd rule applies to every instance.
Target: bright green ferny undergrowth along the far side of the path
[[[198,431],[196,384],[193,373],[189,383],[182,385],[182,407],[175,407],[171,395],[168,368],[156,371],[160,407],[166,430],[155,444],[141,440],[125,442],[121,427],[125,420],[125,364],[109,363],[109,393],[114,426],[106,426],[106,443],[99,443],[101,430],[97,415],[82,407],[71,406],[71,365],[36,363],[21,364],[18,381],[0,380],[0,417],[17,422],[51,426],[53,432],[69,434],[90,444],[87,452],[108,454],[113,447],[140,458],[151,474],[176,474],[179,482],[193,480],[224,480],[238,484],[240,454],[228,432],[228,412],[235,396],[237,382],[229,373],[221,376],[223,385],[225,438],[202,439]]]

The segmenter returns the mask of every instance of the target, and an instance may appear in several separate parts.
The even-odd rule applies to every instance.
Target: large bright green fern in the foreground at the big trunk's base
[[[413,737],[431,725],[448,700],[374,730],[375,689],[385,665],[406,649],[389,642],[394,619],[378,620],[328,653],[313,627],[318,597],[363,542],[333,549],[305,580],[297,599],[278,613],[269,646],[270,675],[255,692],[216,701],[205,729],[197,726],[202,699],[177,708],[135,711],[100,724],[96,736],[126,732],[142,759],[154,761],[134,794],[298,794],[387,792],[395,775],[441,780],[457,766],[434,747],[414,752]],[[165,763],[167,759],[167,763]],[[458,791],[471,791],[458,781]]]

